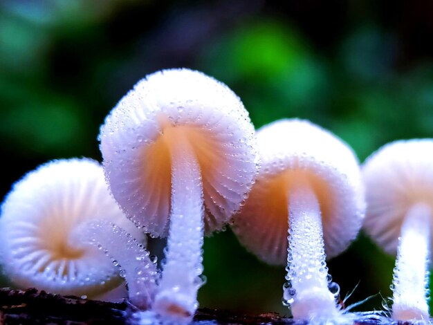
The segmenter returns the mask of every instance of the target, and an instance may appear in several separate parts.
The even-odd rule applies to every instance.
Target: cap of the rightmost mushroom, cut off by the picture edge
[[[388,143],[365,160],[362,177],[367,200],[363,228],[385,252],[395,255],[409,209],[424,203],[433,212],[433,139]]]

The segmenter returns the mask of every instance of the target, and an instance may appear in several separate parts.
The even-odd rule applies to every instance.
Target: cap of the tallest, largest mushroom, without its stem
[[[100,149],[113,196],[152,236],[168,234],[179,138],[201,168],[207,234],[230,221],[257,174],[254,127],[228,86],[188,69],[148,75],[107,116]]]

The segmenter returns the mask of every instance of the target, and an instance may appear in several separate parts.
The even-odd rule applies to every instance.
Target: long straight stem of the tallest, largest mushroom
[[[203,185],[201,170],[187,139],[171,148],[172,198],[165,264],[154,311],[162,318],[190,322],[203,284]]]

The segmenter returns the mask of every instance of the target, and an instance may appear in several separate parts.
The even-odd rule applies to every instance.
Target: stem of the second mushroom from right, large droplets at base
[[[288,223],[285,304],[295,319],[335,319],[338,308],[328,289],[320,205],[308,185],[289,191]]]

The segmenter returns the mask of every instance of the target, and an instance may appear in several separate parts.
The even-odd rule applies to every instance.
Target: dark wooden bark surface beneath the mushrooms
[[[111,303],[82,299],[75,296],[53,295],[36,289],[0,289],[0,324],[127,324],[129,305],[127,301]],[[200,308],[194,323],[210,324],[294,324],[290,318],[277,313],[258,316],[234,315],[227,310]],[[297,322],[297,324],[302,324]],[[356,324],[378,324],[367,319]]]

